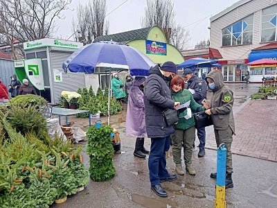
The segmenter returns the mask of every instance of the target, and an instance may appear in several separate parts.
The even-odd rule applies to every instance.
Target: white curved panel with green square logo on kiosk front
[[[40,58],[25,60],[25,72],[30,83],[39,90],[44,90],[42,60]]]

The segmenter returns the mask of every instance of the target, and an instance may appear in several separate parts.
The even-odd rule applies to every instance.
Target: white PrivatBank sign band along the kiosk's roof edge
[[[40,40],[24,42],[24,50],[37,49],[43,47],[61,47],[67,49],[80,49],[83,46],[80,42],[73,42],[68,40],[58,40],[51,38],[44,38]]]

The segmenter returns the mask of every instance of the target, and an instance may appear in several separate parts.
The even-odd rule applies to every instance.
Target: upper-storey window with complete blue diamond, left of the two
[[[253,40],[253,15],[235,22],[222,29],[222,46],[238,46],[252,44]]]

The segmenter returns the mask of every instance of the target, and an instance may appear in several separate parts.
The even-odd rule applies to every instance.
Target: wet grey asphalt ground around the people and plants
[[[235,117],[240,116],[245,107],[251,103],[249,96],[257,92],[260,85],[230,84],[229,86],[235,92],[233,107]],[[244,121],[255,118],[255,114],[248,114]],[[72,117],[72,120],[83,125],[88,124],[87,119]],[[107,118],[101,118],[101,120],[105,122]],[[114,155],[116,177],[109,182],[91,180],[84,191],[69,197],[64,204],[53,205],[53,207],[214,207],[215,180],[209,175],[216,168],[216,150],[208,147],[206,156],[198,158],[198,149],[195,148],[193,166],[197,175],[178,175],[175,182],[163,183],[162,186],[168,191],[168,198],[160,198],[150,190],[148,159],[133,156],[135,138],[125,135],[125,113],[112,116],[111,125],[119,130],[121,139],[121,152]],[[247,123],[240,123],[240,125],[247,126]],[[252,132],[256,132],[256,128],[253,128]],[[212,145],[212,141],[215,143],[215,140],[211,134],[213,134],[212,128],[207,130],[207,138],[209,138],[207,140],[211,141]],[[275,141],[276,139],[275,137]],[[145,146],[150,148],[150,139],[145,141]],[[85,153],[83,154],[85,165],[88,166],[89,158]],[[168,170],[173,173],[175,164],[171,150],[167,162]],[[276,207],[276,162],[233,155],[233,169],[234,188],[226,190],[227,207]]]

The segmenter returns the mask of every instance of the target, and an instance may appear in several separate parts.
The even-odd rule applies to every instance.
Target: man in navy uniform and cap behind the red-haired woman
[[[184,69],[184,78],[188,82],[187,89],[193,94],[193,98],[197,103],[202,105],[202,101],[207,96],[207,85],[205,80],[195,76],[191,69]],[[205,128],[197,129],[197,137],[199,139],[199,153],[198,157],[205,155],[206,131]]]

